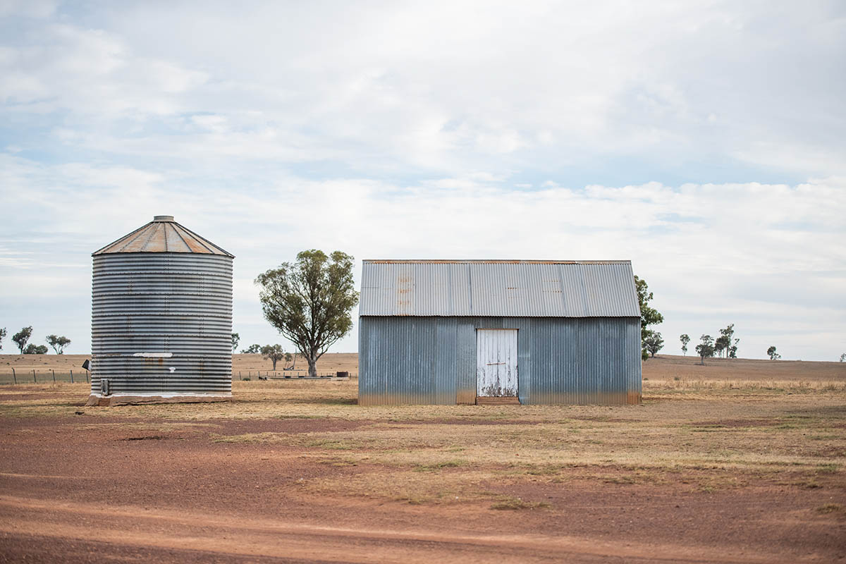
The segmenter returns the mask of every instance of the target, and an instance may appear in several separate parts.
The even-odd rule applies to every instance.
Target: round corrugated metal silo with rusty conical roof
[[[155,216],[92,256],[88,404],[232,397],[233,255]]]

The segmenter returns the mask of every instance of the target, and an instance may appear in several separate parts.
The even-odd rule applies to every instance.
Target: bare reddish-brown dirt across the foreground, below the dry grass
[[[334,476],[305,449],[213,441],[371,421],[0,419],[0,561],[793,562],[846,556],[846,519],[810,508],[843,490],[761,483],[701,495],[677,485],[525,484],[550,510],[304,496]],[[421,432],[426,432],[421,423]],[[92,432],[93,431],[93,432]],[[361,472],[362,468],[355,468]],[[493,490],[497,485],[489,485]],[[660,555],[660,556],[659,556]]]

